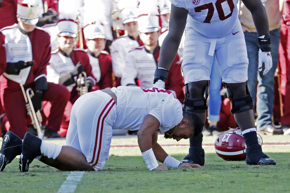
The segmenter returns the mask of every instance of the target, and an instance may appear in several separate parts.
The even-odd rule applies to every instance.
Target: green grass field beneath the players
[[[290,136],[262,136],[264,144],[290,142]],[[136,137],[113,137],[110,158],[99,172],[76,172],[62,185],[70,172],[59,171],[40,161],[29,172],[18,169],[19,157],[0,173],[2,192],[290,192],[290,145],[263,145],[263,151],[276,160],[276,166],[248,166],[244,161],[224,161],[214,152],[215,137],[204,137],[205,166],[149,171],[141,157]],[[65,144],[65,140],[47,140]],[[188,153],[188,140],[158,139],[167,153],[181,160]],[[1,142],[0,142],[1,144]],[[170,145],[169,145],[170,144]],[[289,144],[289,143],[288,143]],[[131,147],[122,147],[130,145]],[[174,146],[176,145],[176,146]],[[77,186],[76,186],[77,185]],[[60,189],[60,187],[64,189]],[[75,190],[71,190],[76,186]]]

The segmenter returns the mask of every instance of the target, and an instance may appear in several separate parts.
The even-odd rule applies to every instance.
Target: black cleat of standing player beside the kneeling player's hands
[[[197,163],[201,166],[205,165],[205,150],[201,147],[189,147],[189,154],[181,160],[182,163]]]

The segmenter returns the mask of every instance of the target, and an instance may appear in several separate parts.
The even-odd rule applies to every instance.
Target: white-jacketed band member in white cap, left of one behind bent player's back
[[[127,7],[121,11],[122,24],[127,35],[115,39],[111,45],[112,67],[116,77],[116,86],[121,85],[120,79],[127,53],[130,49],[143,45],[138,32],[138,14],[139,11],[136,7]]]

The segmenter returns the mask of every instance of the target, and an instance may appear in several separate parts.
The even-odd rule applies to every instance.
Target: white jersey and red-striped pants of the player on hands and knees
[[[150,114],[164,133],[183,118],[181,103],[168,90],[120,86],[111,91],[117,104],[98,90],[82,95],[72,107],[66,145],[80,150],[95,170],[101,170],[109,158],[112,129],[138,130]]]

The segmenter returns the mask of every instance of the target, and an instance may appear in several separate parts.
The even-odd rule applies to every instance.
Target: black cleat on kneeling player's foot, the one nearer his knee
[[[29,164],[34,158],[41,156],[41,142],[42,140],[35,135],[29,132],[25,133],[22,143],[22,153],[19,159],[19,169],[21,172],[28,172]]]

